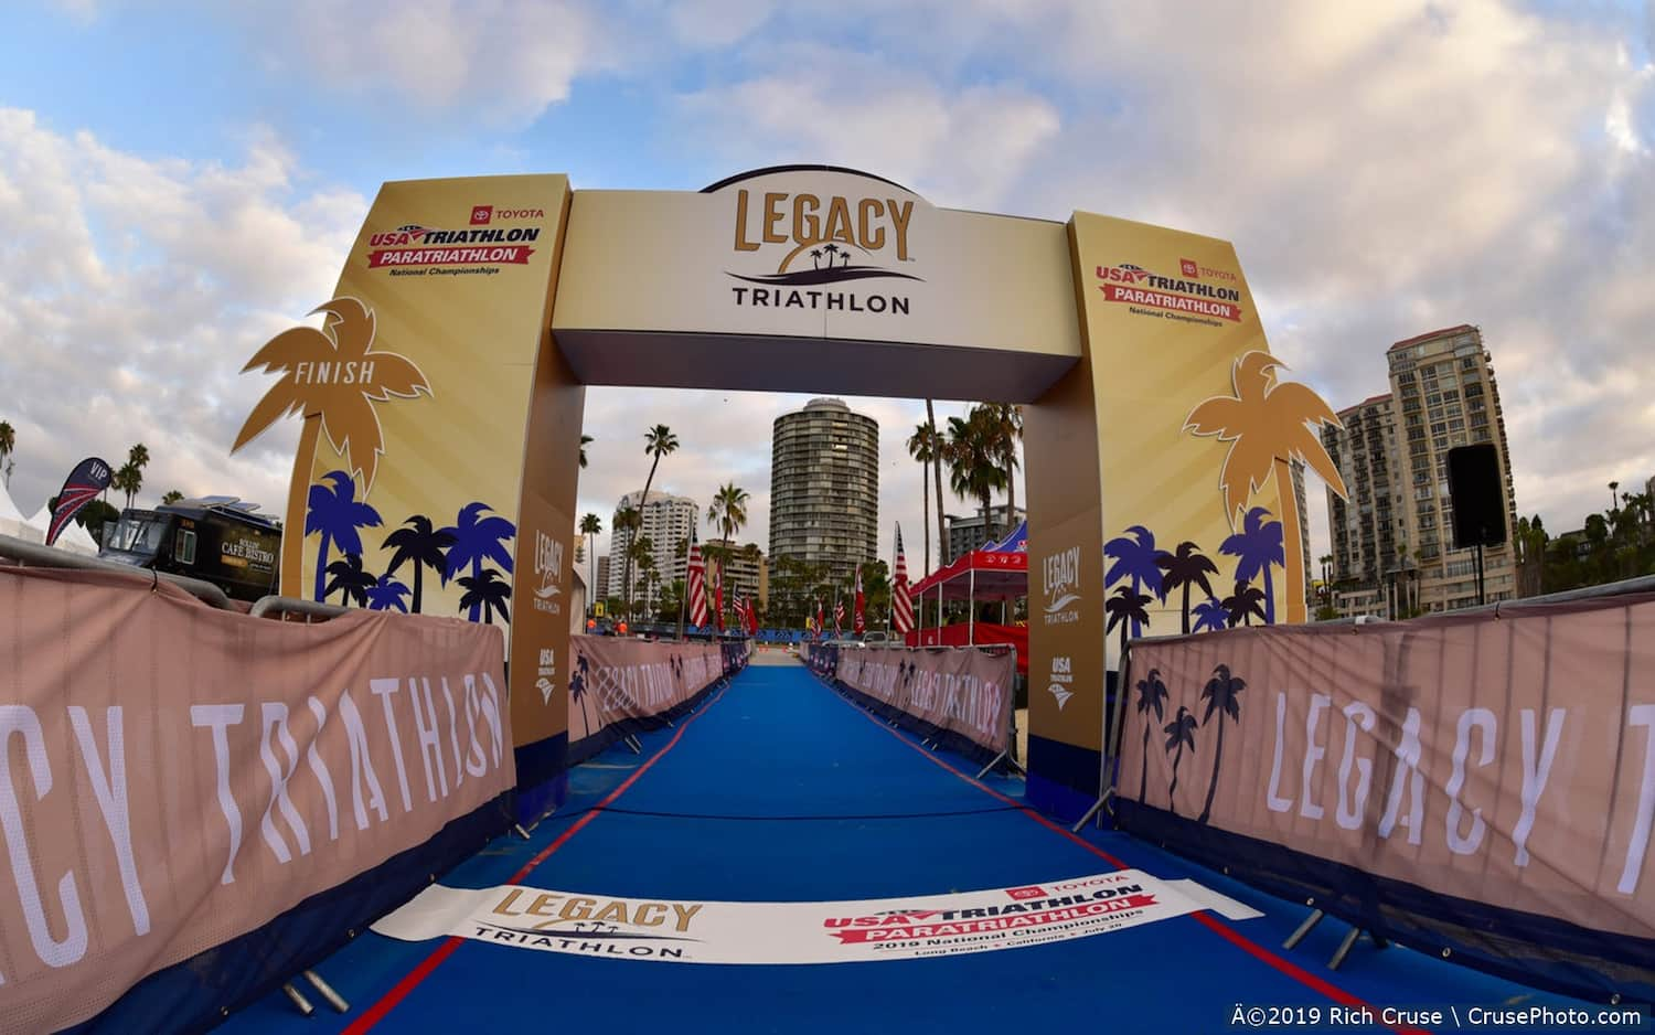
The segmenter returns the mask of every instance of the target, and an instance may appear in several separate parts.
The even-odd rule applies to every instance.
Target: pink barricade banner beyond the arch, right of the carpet
[[[957,737],[963,750],[988,757],[1011,745],[1010,651],[814,647],[811,656],[824,676],[910,717],[927,735]]]

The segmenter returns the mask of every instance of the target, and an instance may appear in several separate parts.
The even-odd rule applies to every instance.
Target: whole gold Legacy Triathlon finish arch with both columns
[[[794,225],[801,195],[884,220],[849,242],[866,265],[786,272],[821,243],[821,224]],[[381,189],[334,295],[367,306],[372,341],[329,321],[250,364],[281,379],[238,444],[305,416],[281,590],[316,598],[326,565],[356,546],[367,571],[417,578],[424,613],[500,624],[520,787],[541,800],[561,800],[564,782],[588,384],[1024,404],[1028,793],[1056,815],[1099,793],[1119,644],[1183,626],[1158,551],[1193,543],[1216,561],[1218,599],[1236,575],[1225,540],[1279,522],[1269,606],[1306,616],[1304,517],[1281,477],[1294,459],[1324,460],[1304,455],[1319,449],[1307,431],[1332,416],[1302,386],[1281,392],[1276,368],[1238,374],[1268,344],[1223,240],[1087,212],[937,209],[828,166],[700,192],[404,181]],[[442,535],[445,561],[407,556]]]

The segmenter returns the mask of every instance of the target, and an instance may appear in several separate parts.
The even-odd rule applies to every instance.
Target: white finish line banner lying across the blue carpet
[[[846,964],[1087,937],[1210,907],[1139,869],[849,903],[672,903],[434,884],[374,931],[680,964]]]

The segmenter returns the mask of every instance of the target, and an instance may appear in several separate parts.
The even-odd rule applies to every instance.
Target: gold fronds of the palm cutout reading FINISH
[[[280,371],[281,381],[248,414],[230,452],[252,442],[280,417],[295,412],[321,417],[321,434],[328,436],[334,452],[349,455],[366,497],[384,455],[384,432],[374,402],[414,399],[420,392],[430,396],[430,383],[407,356],[374,348],[374,311],[359,300],[334,298],[313,313],[326,313],[321,330],[300,326],[281,331],[242,368],[242,373],[258,366],[265,373]],[[308,452],[300,449],[300,455]]]

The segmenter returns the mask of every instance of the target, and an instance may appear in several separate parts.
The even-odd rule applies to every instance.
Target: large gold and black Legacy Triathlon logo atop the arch
[[[909,296],[836,290],[867,280],[922,280],[895,263],[912,262],[914,202],[791,192],[735,192],[735,252],[763,252],[775,272],[736,273],[756,286],[733,286],[736,305],[846,313],[909,313]]]

